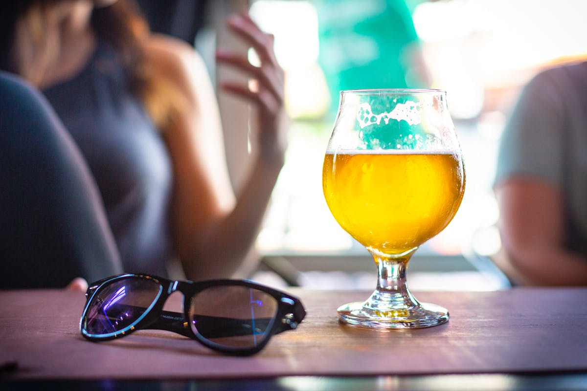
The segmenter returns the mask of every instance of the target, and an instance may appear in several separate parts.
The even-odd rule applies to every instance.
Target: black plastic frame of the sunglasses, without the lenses
[[[160,291],[153,303],[146,308],[139,319],[132,322],[129,326],[106,335],[90,334],[84,328],[84,319],[86,318],[89,304],[97,293],[104,287],[115,283],[116,281],[126,278],[141,278],[151,280],[160,285]],[[253,288],[271,295],[277,301],[277,311],[274,318],[271,320],[268,329],[265,332],[265,338],[262,339],[256,346],[251,348],[231,348],[212,342],[198,332],[194,332],[190,327],[190,307],[191,299],[201,291],[210,287],[222,286],[241,286]],[[167,298],[174,292],[179,291],[184,295],[183,312],[163,311],[163,307]],[[261,351],[271,339],[274,334],[279,334],[284,331],[292,330],[298,327],[298,324],[305,317],[306,311],[303,308],[302,302],[289,294],[265,285],[257,284],[249,280],[208,280],[208,281],[181,281],[168,280],[167,278],[154,276],[153,274],[119,274],[117,276],[103,278],[89,285],[86,291],[86,304],[80,319],[80,332],[82,336],[90,341],[109,341],[111,339],[122,338],[137,330],[156,329],[176,332],[195,339],[202,345],[210,349],[222,353],[231,353],[234,355],[252,355]]]

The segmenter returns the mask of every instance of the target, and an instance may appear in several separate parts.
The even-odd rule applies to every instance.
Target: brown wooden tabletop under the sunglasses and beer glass
[[[295,331],[274,336],[258,355],[245,358],[221,355],[163,331],[89,342],[79,334],[83,294],[0,291],[2,379],[12,386],[22,385],[20,380],[291,382],[289,388],[268,389],[331,379],[334,389],[344,390],[367,389],[369,380],[375,382],[373,389],[385,389],[385,382],[390,389],[402,389],[410,379],[440,384],[451,379],[453,385],[455,379],[471,379],[463,389],[483,389],[475,388],[480,379],[506,376],[518,383],[499,389],[517,389],[528,379],[537,385],[562,379],[587,389],[587,288],[416,293],[421,301],[448,308],[450,321],[411,331],[339,324],[338,305],[363,300],[366,291],[289,291],[302,299],[306,319]],[[336,383],[341,378],[346,380]],[[345,388],[353,382],[363,386]]]

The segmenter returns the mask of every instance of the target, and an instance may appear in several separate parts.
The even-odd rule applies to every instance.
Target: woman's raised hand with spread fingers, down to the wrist
[[[273,51],[274,36],[262,32],[247,13],[231,16],[228,28],[245,40],[259,56],[261,66],[249,63],[246,55],[218,50],[216,59],[247,73],[253,79],[248,85],[227,81],[222,83],[226,91],[243,97],[258,108],[259,155],[268,162],[283,164],[287,145],[284,108],[284,71]]]

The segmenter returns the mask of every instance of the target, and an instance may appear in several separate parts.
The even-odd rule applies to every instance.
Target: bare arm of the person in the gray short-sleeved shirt
[[[532,178],[507,179],[495,189],[505,257],[498,266],[521,285],[587,285],[587,260],[564,247],[560,191]]]

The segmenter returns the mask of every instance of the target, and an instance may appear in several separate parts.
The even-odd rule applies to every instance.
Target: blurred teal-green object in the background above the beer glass
[[[340,90],[425,87],[410,72],[419,39],[405,0],[316,0],[316,9],[331,112]]]

